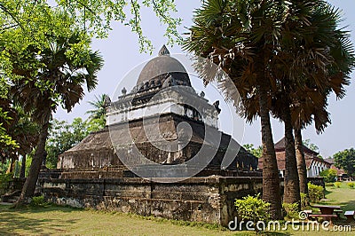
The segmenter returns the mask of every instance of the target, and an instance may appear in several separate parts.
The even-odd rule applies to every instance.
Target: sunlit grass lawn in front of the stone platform
[[[323,203],[323,202],[322,202]],[[327,187],[325,204],[340,205],[343,211],[355,210],[355,189],[346,184]],[[345,220],[335,224],[347,224]],[[264,232],[261,235],[355,235],[352,232]],[[210,224],[185,223],[155,217],[57,206],[11,209],[0,205],[0,235],[255,235],[231,232]]]

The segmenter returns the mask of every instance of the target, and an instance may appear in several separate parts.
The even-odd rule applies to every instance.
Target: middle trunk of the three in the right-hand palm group
[[[291,120],[291,112],[289,103],[286,101],[286,106],[283,114],[283,122],[285,123],[285,188],[283,201],[286,203],[298,203],[300,208],[300,186],[297,172],[295,139],[293,135],[293,125]]]

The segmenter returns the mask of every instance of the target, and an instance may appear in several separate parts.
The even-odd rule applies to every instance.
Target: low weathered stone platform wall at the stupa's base
[[[260,193],[262,177],[191,177],[177,183],[140,177],[41,177],[37,190],[59,205],[226,226],[237,216],[234,200]]]

